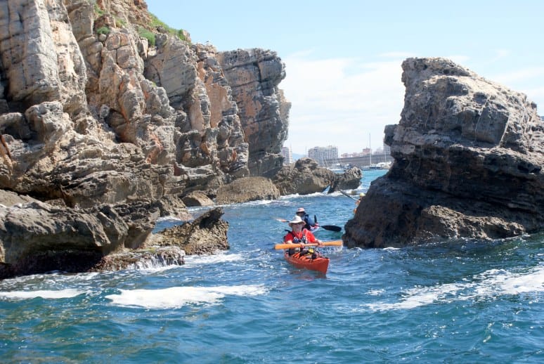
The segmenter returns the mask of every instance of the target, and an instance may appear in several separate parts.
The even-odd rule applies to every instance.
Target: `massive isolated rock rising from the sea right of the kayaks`
[[[394,164],[348,221],[348,247],[507,238],[544,228],[544,123],[522,93],[443,58],[408,58]]]

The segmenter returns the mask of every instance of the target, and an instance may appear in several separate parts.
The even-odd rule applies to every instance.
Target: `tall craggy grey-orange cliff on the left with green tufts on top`
[[[134,203],[183,214],[178,197],[280,164],[276,53],[191,44],[142,0],[1,1],[0,35],[0,189],[46,202],[37,215]]]

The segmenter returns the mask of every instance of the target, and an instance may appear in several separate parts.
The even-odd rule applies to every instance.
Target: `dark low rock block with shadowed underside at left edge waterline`
[[[0,278],[45,271],[78,272],[127,242],[129,226],[114,209],[93,211],[43,202],[0,207]]]

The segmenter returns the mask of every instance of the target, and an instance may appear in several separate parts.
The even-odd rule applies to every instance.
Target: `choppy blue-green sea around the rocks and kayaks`
[[[385,172],[364,171],[354,193]],[[226,252],[0,281],[1,362],[544,363],[544,234],[324,247],[324,275],[273,248],[288,228],[277,219],[298,207],[343,232],[355,203],[315,193],[225,205]]]

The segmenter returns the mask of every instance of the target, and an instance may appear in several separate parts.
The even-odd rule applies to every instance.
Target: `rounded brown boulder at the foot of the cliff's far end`
[[[245,177],[239,178],[217,190],[218,204],[235,204],[257,200],[276,200],[280,191],[269,178]]]

